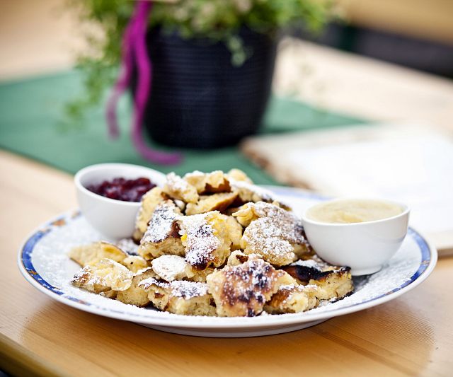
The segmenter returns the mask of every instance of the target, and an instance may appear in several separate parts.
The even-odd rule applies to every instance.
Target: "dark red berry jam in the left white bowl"
[[[142,196],[156,187],[148,178],[127,180],[125,178],[113,178],[105,180],[98,185],[89,185],[87,190],[110,199],[122,200],[123,202],[139,202]]]

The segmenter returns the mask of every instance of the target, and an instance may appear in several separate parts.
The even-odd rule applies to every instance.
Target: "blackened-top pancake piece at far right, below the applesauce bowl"
[[[350,267],[330,266],[316,260],[298,260],[283,269],[299,284],[315,284],[314,294],[319,300],[335,301],[348,296],[354,290]]]

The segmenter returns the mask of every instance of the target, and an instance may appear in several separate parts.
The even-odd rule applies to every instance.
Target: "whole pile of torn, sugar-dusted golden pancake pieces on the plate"
[[[74,286],[180,315],[302,313],[354,290],[350,268],[321,260],[302,221],[239,169],[168,174],[142,197],[132,238],[69,256],[83,267]]]

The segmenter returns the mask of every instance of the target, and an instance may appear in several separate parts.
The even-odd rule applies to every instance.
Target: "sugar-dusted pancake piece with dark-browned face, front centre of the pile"
[[[250,256],[241,265],[226,266],[207,277],[217,315],[222,317],[258,315],[266,301],[285,284],[294,284],[294,279],[255,256]]]

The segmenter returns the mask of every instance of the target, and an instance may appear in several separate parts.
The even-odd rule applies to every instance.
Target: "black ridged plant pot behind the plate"
[[[276,44],[246,28],[240,35],[251,57],[233,66],[222,42],[149,30],[153,69],[144,123],[155,141],[214,148],[257,131],[270,95]]]

